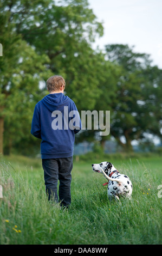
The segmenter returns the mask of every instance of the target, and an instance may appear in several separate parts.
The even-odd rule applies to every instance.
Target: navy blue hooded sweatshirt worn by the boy
[[[73,115],[75,111],[75,114]],[[81,120],[73,100],[63,93],[48,94],[34,109],[31,134],[42,139],[42,159],[56,159],[73,156],[75,133],[81,130]],[[71,112],[71,114],[69,114]],[[60,118],[60,119],[59,119]],[[73,119],[73,120],[72,120]],[[73,129],[70,129],[70,121]]]

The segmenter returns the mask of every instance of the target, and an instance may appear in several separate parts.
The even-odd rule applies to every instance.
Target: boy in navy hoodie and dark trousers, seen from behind
[[[31,134],[42,139],[41,156],[48,200],[57,203],[60,200],[62,207],[68,207],[71,203],[74,139],[75,133],[81,130],[81,120],[75,103],[63,94],[65,86],[62,76],[55,75],[48,78],[49,94],[36,104],[31,124]],[[69,124],[73,123],[70,112],[75,113],[77,117],[74,123],[79,125]]]

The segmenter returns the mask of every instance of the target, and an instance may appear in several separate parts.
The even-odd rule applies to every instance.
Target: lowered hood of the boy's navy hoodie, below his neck
[[[48,94],[42,99],[43,104],[53,112],[55,110],[63,111],[64,106],[68,106],[70,98],[63,93]]]

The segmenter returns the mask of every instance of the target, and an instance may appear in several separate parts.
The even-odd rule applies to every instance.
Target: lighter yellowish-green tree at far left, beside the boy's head
[[[33,102],[40,99],[40,81],[48,73],[45,64],[49,62],[46,54],[37,54],[16,32],[15,24],[11,22],[11,5],[14,2],[2,1],[0,4],[0,41],[3,45],[0,58],[1,154],[3,145],[9,152],[12,142],[27,134],[27,127],[30,131]]]

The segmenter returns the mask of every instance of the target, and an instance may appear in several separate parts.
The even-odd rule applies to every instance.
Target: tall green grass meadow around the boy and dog
[[[77,159],[78,160],[78,159]],[[132,200],[109,202],[102,174],[91,164],[110,161],[133,184]],[[160,156],[76,161],[72,170],[72,205],[61,210],[48,202],[40,159],[0,158],[1,245],[148,245],[162,243]],[[162,192],[161,192],[162,194]]]

